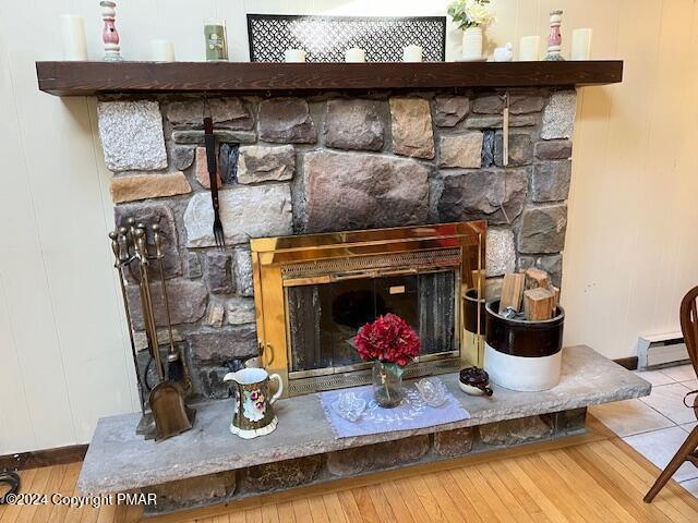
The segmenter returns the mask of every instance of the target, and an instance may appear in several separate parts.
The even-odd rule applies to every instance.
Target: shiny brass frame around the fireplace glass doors
[[[334,370],[289,373],[290,336],[285,289],[329,283],[348,278],[372,278],[455,269],[458,346],[448,353],[425,355],[410,365],[407,377],[454,372],[480,361],[478,339],[464,331],[461,299],[476,289],[481,299],[484,275],[485,221],[334,232],[251,240],[257,341],[264,366],[278,373],[286,396],[370,382],[370,364]],[[476,281],[480,284],[476,285]],[[480,314],[480,307],[478,307]],[[480,318],[476,325],[480,326]],[[474,342],[473,342],[474,340]]]

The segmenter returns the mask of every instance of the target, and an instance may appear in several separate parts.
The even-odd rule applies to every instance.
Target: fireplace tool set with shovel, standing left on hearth
[[[167,296],[167,285],[165,283],[165,272],[163,269],[163,244],[161,231],[158,224],[151,226],[153,238],[152,256],[148,247],[147,228],[143,223],[136,223],[134,218],[127,220],[127,227],[109,233],[111,250],[115,255],[115,268],[119,273],[123,306],[129,324],[129,337],[131,341],[131,352],[133,364],[135,365],[139,394],[141,400],[141,411],[143,418],[136,429],[137,434],[145,436],[145,439],[161,440],[192,428],[196,411],[186,406],[184,399],[191,391],[191,379],[183,355],[174,345],[172,340],[172,324],[170,319],[170,308]],[[163,304],[167,317],[167,328],[169,336],[169,346],[167,351],[167,372],[159,350],[157,326],[153,312],[153,296],[151,289],[151,278],[148,270],[157,267]],[[129,279],[130,277],[130,279]],[[139,287],[141,299],[141,311],[145,326],[145,336],[148,349],[148,364],[144,373],[139,367],[137,349],[133,338],[132,309],[128,300],[128,288],[133,282]],[[155,372],[158,381],[151,387],[148,382],[148,370],[155,364]],[[147,396],[147,401],[145,397]]]

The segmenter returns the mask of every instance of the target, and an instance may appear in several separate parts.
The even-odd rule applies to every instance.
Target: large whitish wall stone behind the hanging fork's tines
[[[239,185],[218,192],[220,221],[226,244],[245,243],[250,238],[291,234],[291,191],[288,184]],[[214,209],[208,193],[195,193],[184,211],[186,245],[215,245]]]

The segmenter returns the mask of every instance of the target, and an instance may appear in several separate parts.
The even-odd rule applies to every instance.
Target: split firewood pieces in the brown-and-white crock
[[[526,269],[504,276],[500,314],[541,321],[556,315],[558,303],[559,289],[551,283],[544,270]]]

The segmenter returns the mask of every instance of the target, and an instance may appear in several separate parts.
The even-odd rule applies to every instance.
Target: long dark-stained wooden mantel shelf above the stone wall
[[[108,93],[546,87],[618,83],[623,80],[623,61],[36,62],[36,73],[39,89],[57,96]]]

